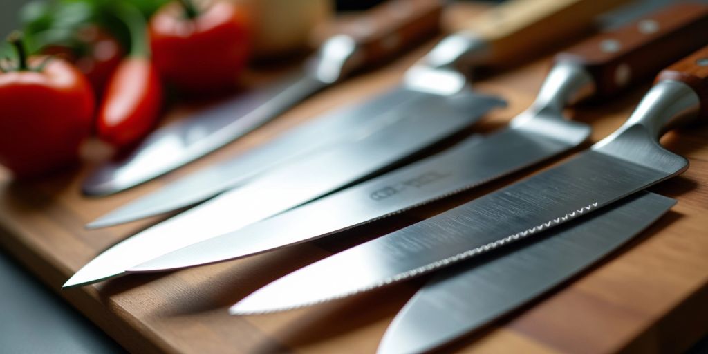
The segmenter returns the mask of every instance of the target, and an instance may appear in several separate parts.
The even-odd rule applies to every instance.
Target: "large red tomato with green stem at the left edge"
[[[89,81],[62,59],[30,59],[30,69],[0,74],[0,164],[18,178],[77,161],[91,132],[95,101]]]

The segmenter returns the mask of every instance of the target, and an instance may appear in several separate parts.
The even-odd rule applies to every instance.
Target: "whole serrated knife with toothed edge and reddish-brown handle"
[[[704,47],[659,73],[627,122],[586,152],[308,265],[242,299],[231,312],[273,312],[346,297],[479,256],[590,214],[685,171],[688,161],[663,149],[658,138],[707,111],[708,47]]]

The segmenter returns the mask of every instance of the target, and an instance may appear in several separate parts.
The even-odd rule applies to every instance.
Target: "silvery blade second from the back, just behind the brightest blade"
[[[224,190],[247,183],[287,161],[295,161],[327,146],[352,141],[366,131],[387,124],[386,120],[379,119],[382,113],[410,104],[423,96],[424,93],[401,87],[371,101],[335,110],[295,127],[261,147],[185,176],[152,194],[133,200],[86,227],[94,229],[113,226],[197,204]],[[138,167],[137,164],[132,166]]]

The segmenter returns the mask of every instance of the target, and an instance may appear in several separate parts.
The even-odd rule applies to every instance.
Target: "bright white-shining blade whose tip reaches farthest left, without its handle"
[[[425,95],[379,116],[380,122],[390,124],[368,131],[357,141],[285,164],[257,181],[122,241],[81,268],[65,286],[120,275],[156,256],[232,232],[343,188],[459,132],[498,104],[495,99],[467,91],[452,97]]]

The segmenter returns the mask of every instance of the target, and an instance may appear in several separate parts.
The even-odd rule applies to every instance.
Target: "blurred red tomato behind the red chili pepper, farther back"
[[[251,52],[244,8],[224,1],[193,18],[183,6],[168,4],[153,16],[149,32],[161,77],[183,91],[233,87]]]

